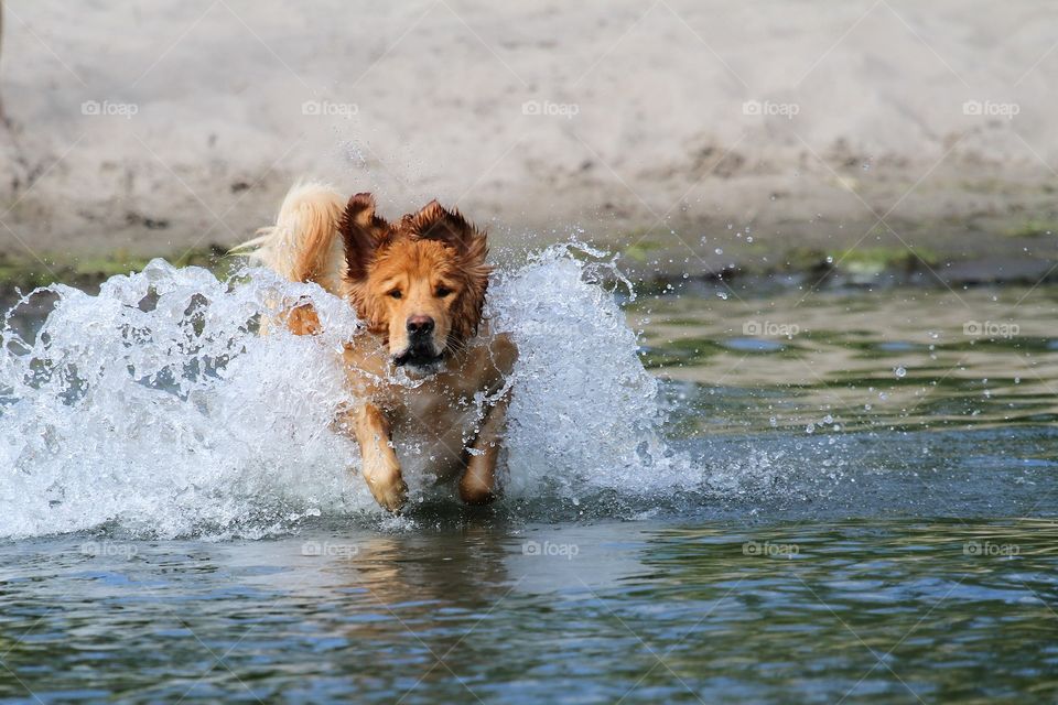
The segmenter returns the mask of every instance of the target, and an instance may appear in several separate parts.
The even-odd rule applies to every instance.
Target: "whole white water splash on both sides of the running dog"
[[[575,257],[574,257],[575,254]],[[487,315],[519,346],[510,502],[590,502],[692,486],[661,440],[657,381],[612,293],[613,263],[561,246],[497,275]],[[54,297],[35,335],[12,313]],[[311,301],[325,333],[256,333]],[[306,517],[377,521],[335,356],[350,308],[262,270],[218,280],[161,260],[98,295],[56,284],[9,312],[0,355],[0,536],[116,527],[140,535],[262,536]],[[353,470],[350,471],[350,468]]]

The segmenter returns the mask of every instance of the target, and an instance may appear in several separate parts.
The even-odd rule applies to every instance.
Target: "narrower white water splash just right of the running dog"
[[[512,497],[644,496],[697,481],[662,441],[658,381],[600,285],[604,273],[620,281],[603,252],[560,245],[493,288],[486,314],[519,351],[508,422]]]

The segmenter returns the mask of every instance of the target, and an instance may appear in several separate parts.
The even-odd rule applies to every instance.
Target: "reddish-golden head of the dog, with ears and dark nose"
[[[386,337],[395,365],[439,371],[477,333],[489,274],[485,234],[436,200],[391,225],[375,214],[370,194],[349,199],[341,229],[357,314]]]

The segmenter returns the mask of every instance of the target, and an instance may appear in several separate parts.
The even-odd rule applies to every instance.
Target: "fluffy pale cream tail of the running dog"
[[[299,182],[283,198],[276,225],[230,253],[248,254],[290,281],[315,282],[341,296],[346,262],[338,223],[345,202],[326,184]]]

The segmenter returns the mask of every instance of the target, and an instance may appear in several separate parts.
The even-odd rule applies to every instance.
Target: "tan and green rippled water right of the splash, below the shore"
[[[1058,419],[1058,289],[651,299],[648,365],[689,432],[936,429]]]

